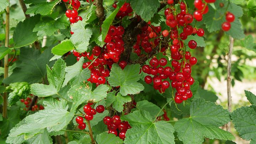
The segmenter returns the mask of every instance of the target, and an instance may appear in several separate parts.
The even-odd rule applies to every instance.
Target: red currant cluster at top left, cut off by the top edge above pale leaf
[[[63,0],[64,2],[68,2],[68,0]],[[69,4],[72,5],[73,10],[66,10],[66,17],[69,18],[70,24],[76,23],[78,21],[82,21],[82,17],[78,16],[78,8],[80,7],[80,1],[79,0],[69,0]],[[70,31],[71,34],[74,34],[74,32]]]

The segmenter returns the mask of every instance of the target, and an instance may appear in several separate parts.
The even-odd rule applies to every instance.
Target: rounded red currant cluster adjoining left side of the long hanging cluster
[[[145,76],[145,82],[147,84],[151,84],[153,81],[154,89],[159,90],[160,93],[164,93],[170,86],[170,82],[164,79],[167,79],[170,76],[172,68],[166,66],[167,60],[165,58],[161,58],[159,60],[157,58],[153,58],[150,60],[149,64],[150,65],[143,65],[142,71],[144,73],[154,75],[154,77],[152,78],[150,75]],[[166,67],[164,68],[163,66]]]

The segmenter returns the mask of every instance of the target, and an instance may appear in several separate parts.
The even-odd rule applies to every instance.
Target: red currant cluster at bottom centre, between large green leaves
[[[127,121],[121,122],[119,116],[115,115],[113,117],[106,116],[103,118],[103,122],[107,125],[108,133],[115,134],[117,136],[119,130],[119,138],[125,139],[126,138],[126,131],[127,129],[131,128],[130,124]]]

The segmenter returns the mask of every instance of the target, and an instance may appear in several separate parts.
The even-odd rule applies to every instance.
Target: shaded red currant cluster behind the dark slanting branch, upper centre
[[[148,24],[150,25],[150,22]],[[140,46],[146,53],[152,52],[152,49],[158,46],[160,42],[160,38],[156,38],[160,32],[160,26],[144,26],[142,28],[142,33],[137,35],[136,44],[134,44],[133,46],[134,53],[140,56],[140,54],[142,53]]]

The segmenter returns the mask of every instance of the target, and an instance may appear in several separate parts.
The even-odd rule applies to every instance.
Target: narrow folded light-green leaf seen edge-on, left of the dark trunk
[[[119,9],[122,7],[123,4],[124,4],[123,1],[119,1],[116,9],[108,17],[106,17],[106,19],[103,21],[103,23],[101,25],[101,35],[98,37],[98,41],[103,42],[105,40],[106,35],[108,33],[108,29],[109,29],[110,25],[112,24],[114,18],[116,17],[117,12],[119,11]]]

